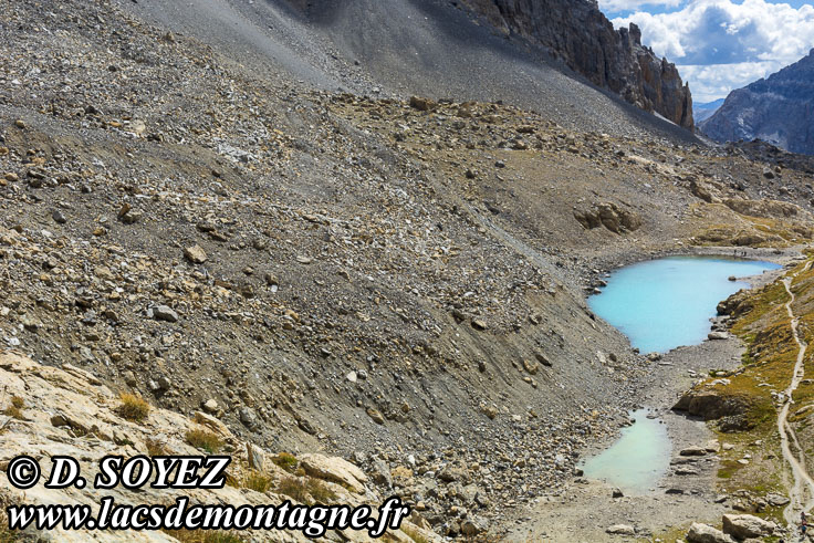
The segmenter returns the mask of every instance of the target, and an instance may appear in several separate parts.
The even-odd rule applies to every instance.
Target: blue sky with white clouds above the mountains
[[[802,59],[814,49],[814,0],[599,0],[616,27],[635,22],[641,41],[689,81],[696,102]]]

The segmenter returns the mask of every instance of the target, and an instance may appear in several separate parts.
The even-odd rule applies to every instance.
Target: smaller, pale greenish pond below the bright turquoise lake
[[[622,429],[622,437],[603,453],[586,461],[585,477],[602,479],[628,493],[643,493],[656,487],[670,464],[670,439],[667,427],[647,418],[640,409],[632,414],[636,421]]]

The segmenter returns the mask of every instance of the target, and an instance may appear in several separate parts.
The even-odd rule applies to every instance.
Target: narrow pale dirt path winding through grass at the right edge
[[[811,262],[807,263],[802,271],[806,271],[810,267]],[[792,429],[787,421],[789,408],[792,405],[792,395],[805,376],[803,359],[805,358],[805,351],[808,347],[805,342],[800,340],[800,335],[797,334],[797,324],[800,323],[800,319],[794,315],[794,311],[792,310],[792,304],[794,303],[794,293],[791,289],[792,279],[793,278],[785,278],[783,280],[783,285],[790,296],[789,302],[785,304],[785,310],[789,313],[789,319],[791,319],[792,334],[800,349],[797,352],[797,361],[794,364],[792,380],[789,384],[789,388],[785,389],[786,401],[778,414],[778,431],[780,432],[783,458],[789,462],[789,466],[791,466],[792,477],[794,478],[794,484],[789,489],[789,498],[791,499],[791,502],[789,503],[789,507],[785,508],[785,511],[783,511],[785,521],[793,525],[796,523],[797,512],[801,510],[808,511],[814,504],[814,480],[812,480],[805,469],[805,458],[803,457],[803,451],[800,449],[800,445],[797,443],[797,436],[794,434],[794,429]],[[797,450],[800,450],[800,458],[795,457],[792,452],[791,446],[789,445],[790,441],[794,442]],[[808,493],[807,500],[806,488]]]

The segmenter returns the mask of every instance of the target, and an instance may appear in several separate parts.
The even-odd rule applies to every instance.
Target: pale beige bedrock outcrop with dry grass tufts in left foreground
[[[61,503],[90,505],[98,514],[100,499],[113,498],[117,505],[140,503],[173,504],[177,498],[191,503],[240,505],[279,505],[284,500],[294,504],[347,503],[356,507],[382,502],[368,484],[368,477],[352,463],[323,455],[271,455],[252,443],[238,439],[216,417],[204,411],[187,418],[164,409],[150,409],[134,420],[123,407],[132,397],[114,394],[96,377],[71,365],[62,368],[42,366],[18,353],[0,354],[0,387],[3,405],[0,414],[0,466],[20,455],[30,455],[43,467],[43,477],[51,476],[50,457],[69,456],[80,460],[82,477],[93,481],[100,472],[98,462],[107,455],[133,458],[138,455],[227,453],[232,462],[227,468],[227,484],[222,489],[157,490],[149,484],[138,491],[117,487],[97,491],[84,489],[46,489],[41,484],[25,491],[9,483],[6,469],[0,473],[0,502],[3,509],[17,503]],[[372,480],[371,480],[372,482]],[[3,515],[6,511],[3,510]],[[2,519],[3,523],[6,518]],[[403,524],[403,530],[389,531],[388,541],[410,543],[440,541],[420,514]],[[417,525],[421,524],[424,528]],[[177,542],[189,541],[185,530],[115,532],[122,541]],[[222,532],[226,534],[227,532]],[[301,532],[228,532],[223,541],[295,542],[313,541]],[[6,525],[0,537],[9,541]],[[112,531],[71,531],[56,528],[36,531],[34,526],[17,533],[21,541],[87,542],[111,541]],[[344,530],[327,533],[324,541],[371,541],[364,532]]]

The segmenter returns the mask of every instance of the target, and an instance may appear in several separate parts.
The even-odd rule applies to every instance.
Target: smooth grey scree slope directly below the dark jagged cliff
[[[453,3],[169,0],[123,1],[122,6],[176,32],[195,35],[216,50],[230,51],[230,56],[255,72],[301,79],[321,88],[390,97],[420,94],[436,100],[503,101],[545,113],[563,126],[627,136],[655,133],[695,142],[692,134],[616,94],[629,92],[630,102],[638,101],[651,111],[653,104],[667,103],[675,95],[671,106],[656,111],[691,126],[682,119],[689,109],[682,105],[680,81],[662,84],[662,70],[669,72],[668,66],[660,61],[644,62],[651,55],[636,45],[633,36],[625,41],[613,29],[602,27],[603,32],[610,32],[607,39],[613,43],[607,45],[613,45],[615,55],[603,60],[613,71],[612,81],[603,81],[577,65],[568,69],[562,61],[552,62],[554,50],[549,44],[522,35],[507,39],[488,21],[478,21],[477,13]],[[563,4],[557,9],[567,14],[572,8]],[[596,11],[592,17],[602,14]],[[568,32],[578,25],[577,20],[568,22]],[[582,29],[578,35],[596,30]],[[597,48],[604,45],[591,42],[580,46],[593,48],[591,54],[601,55]],[[638,58],[643,64],[636,62]],[[626,86],[625,71],[633,74],[633,86]]]

